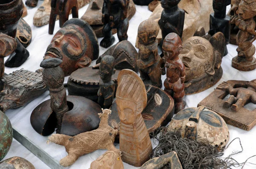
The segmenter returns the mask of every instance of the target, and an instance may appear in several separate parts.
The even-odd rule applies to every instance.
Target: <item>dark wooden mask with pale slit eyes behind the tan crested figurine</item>
[[[165,126],[172,120],[174,115],[174,101],[168,93],[158,87],[151,85],[145,86],[147,90],[147,106],[143,110],[142,117],[148,129],[148,133],[154,132],[160,126]],[[116,101],[111,106],[111,115],[108,124],[119,129],[120,119],[117,113]],[[119,142],[119,133],[116,136],[116,143]]]

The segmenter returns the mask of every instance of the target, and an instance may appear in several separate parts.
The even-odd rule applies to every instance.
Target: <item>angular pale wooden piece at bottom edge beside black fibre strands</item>
[[[147,161],[140,169],[163,169],[168,163],[171,166],[169,169],[182,169],[178,155],[174,151]]]

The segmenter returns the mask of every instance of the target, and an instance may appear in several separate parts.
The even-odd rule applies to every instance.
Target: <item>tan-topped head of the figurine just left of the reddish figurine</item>
[[[144,20],[138,28],[139,43],[148,45],[157,39],[159,32],[158,23],[154,20]]]

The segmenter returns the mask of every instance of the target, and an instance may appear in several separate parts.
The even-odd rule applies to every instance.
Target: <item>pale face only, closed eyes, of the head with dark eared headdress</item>
[[[183,43],[179,55],[186,67],[186,82],[203,76],[214,74],[212,44],[202,37],[191,37]]]

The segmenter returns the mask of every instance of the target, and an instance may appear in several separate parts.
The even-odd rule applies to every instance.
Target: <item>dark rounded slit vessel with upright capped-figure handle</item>
[[[49,86],[51,99],[39,104],[30,116],[32,127],[41,135],[56,132],[77,135],[98,127],[96,112],[99,104],[84,97],[66,96],[63,86],[64,72],[59,67],[61,59],[49,58],[41,62],[44,82]]]

